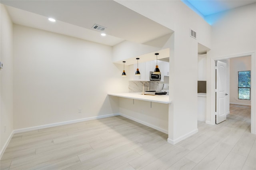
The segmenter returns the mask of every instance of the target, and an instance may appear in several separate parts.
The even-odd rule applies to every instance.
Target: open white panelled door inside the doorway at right
[[[216,124],[226,121],[227,64],[216,61]]]

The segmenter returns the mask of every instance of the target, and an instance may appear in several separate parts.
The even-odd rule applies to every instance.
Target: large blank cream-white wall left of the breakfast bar
[[[14,25],[13,63],[15,129],[119,113],[107,93],[128,91],[107,45]]]

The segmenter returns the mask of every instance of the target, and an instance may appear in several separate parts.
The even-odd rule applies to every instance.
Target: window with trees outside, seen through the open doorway
[[[250,100],[251,71],[238,71],[238,99]]]

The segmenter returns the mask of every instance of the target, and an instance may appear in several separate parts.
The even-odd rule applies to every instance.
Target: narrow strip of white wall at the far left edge
[[[1,8],[1,38],[0,38],[0,61],[4,68],[0,69],[0,154],[8,142],[8,138],[13,130],[13,86],[12,86],[12,21],[6,8],[0,4]],[[6,126],[6,132],[4,132]]]

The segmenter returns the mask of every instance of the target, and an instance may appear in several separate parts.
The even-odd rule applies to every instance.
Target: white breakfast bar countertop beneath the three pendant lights
[[[124,97],[129,99],[137,99],[137,100],[144,100],[144,101],[152,101],[156,103],[164,103],[169,104],[172,103],[169,99],[169,95],[142,95],[141,92],[136,93],[108,93],[108,95],[111,96],[117,96],[117,97]]]

